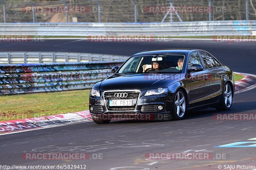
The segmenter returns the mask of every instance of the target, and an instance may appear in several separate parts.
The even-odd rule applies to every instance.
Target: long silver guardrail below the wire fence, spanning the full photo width
[[[0,23],[0,35],[27,36],[214,36],[255,35],[255,20],[172,23]]]

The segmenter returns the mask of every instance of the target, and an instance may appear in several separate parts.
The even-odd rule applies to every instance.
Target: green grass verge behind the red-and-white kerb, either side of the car
[[[244,76],[234,74],[234,80]],[[89,110],[90,90],[0,96],[0,121]]]

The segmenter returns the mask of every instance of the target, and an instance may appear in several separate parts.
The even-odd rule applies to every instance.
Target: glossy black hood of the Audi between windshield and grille
[[[122,74],[110,76],[93,86],[101,91],[112,89],[154,89],[165,87],[183,74]]]

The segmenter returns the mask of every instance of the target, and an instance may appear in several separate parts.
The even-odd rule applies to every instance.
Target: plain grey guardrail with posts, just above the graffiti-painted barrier
[[[1,41],[1,40],[0,40]],[[69,52],[0,52],[0,64],[95,62],[126,60],[130,56]]]

